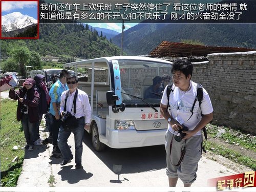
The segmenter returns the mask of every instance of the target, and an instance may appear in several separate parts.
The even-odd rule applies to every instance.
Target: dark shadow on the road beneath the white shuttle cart
[[[113,172],[114,165],[122,165],[119,174],[148,172],[166,167],[164,145],[121,149],[106,146],[104,151],[97,152],[87,132],[84,133],[83,142]]]

